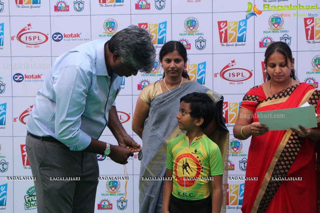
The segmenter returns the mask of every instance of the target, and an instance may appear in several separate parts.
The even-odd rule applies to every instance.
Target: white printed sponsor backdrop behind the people
[[[230,131],[227,212],[241,212],[245,186],[239,179],[245,177],[250,138],[237,140],[232,129],[244,94],[265,80],[266,48],[272,42],[286,42],[293,51],[299,80],[315,88],[320,80],[318,1],[248,1],[0,0],[0,211],[36,212],[33,181],[6,177],[32,177],[25,124],[55,58],[85,42],[108,40],[135,24],[152,33],[157,54],[165,42],[183,43],[191,80],[223,94]],[[131,129],[135,104],[141,90],[162,74],[156,60],[150,74],[124,79],[116,100],[120,121],[141,144]],[[108,129],[100,140],[116,144]],[[126,165],[126,192],[125,180],[106,180],[126,177],[123,166],[100,155],[97,158],[96,212],[138,212],[137,155]]]

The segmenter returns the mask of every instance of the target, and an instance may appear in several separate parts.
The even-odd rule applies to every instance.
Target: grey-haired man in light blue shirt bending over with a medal
[[[26,125],[38,212],[94,212],[96,153],[126,164],[141,151],[121,125],[114,101],[123,76],[151,72],[154,58],[148,31],[130,26],[108,42],[82,44],[55,60]],[[98,141],[106,126],[119,146]]]

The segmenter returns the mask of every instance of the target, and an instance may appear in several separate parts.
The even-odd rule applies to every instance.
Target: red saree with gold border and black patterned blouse
[[[240,107],[257,111],[299,107],[308,102],[320,114],[320,91],[300,83],[267,97],[261,86],[251,88]],[[320,128],[320,124],[318,124]],[[246,169],[242,212],[316,212],[316,154],[314,141],[291,130],[252,136]],[[274,180],[275,178],[302,180]]]

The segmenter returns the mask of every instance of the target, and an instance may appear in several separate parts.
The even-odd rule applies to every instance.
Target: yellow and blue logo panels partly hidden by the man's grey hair
[[[167,21],[159,24],[139,23],[138,26],[140,28],[145,28],[150,32],[153,44],[165,44],[167,37]]]

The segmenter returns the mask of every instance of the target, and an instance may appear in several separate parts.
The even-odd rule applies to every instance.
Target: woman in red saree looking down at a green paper
[[[294,58],[284,42],[270,44],[265,53],[268,81],[244,96],[234,136],[252,136],[244,185],[242,212],[316,212],[316,154],[318,127],[268,131],[259,123],[258,111],[315,106],[320,114],[320,91],[296,80]]]

